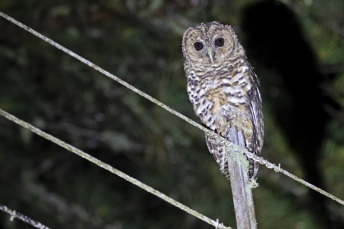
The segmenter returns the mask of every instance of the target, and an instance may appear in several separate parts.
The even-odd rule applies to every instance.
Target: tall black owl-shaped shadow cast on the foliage
[[[243,30],[248,56],[274,72],[274,76],[259,77],[270,90],[266,98],[300,159],[306,180],[326,190],[318,163],[329,120],[323,106],[333,102],[320,89],[323,76],[293,12],[276,1],[251,5],[244,13]],[[328,198],[309,192],[307,204],[314,220],[322,228],[343,228],[340,220],[331,219]]]

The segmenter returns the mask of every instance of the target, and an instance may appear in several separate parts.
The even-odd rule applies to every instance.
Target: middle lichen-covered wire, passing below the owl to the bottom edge
[[[9,119],[12,122],[17,123],[18,125],[20,125],[22,127],[25,127],[26,129],[31,130],[33,133],[35,133],[35,134],[37,134],[37,135],[39,135],[39,136],[41,136],[41,137],[43,137],[43,138],[45,138],[45,139],[47,139],[49,141],[52,141],[55,144],[65,148],[65,149],[67,149],[67,150],[69,150],[69,151],[71,151],[71,152],[73,152],[75,154],[77,154],[78,156],[80,156],[80,157],[82,157],[82,158],[84,158],[84,159],[86,159],[86,160],[88,160],[88,161],[90,161],[92,163],[95,163],[96,165],[100,166],[101,168],[106,169],[107,171],[120,176],[121,178],[129,181],[132,184],[135,184],[135,185],[139,186],[140,188],[146,190],[147,192],[150,192],[150,193],[154,194],[155,196],[160,197],[164,201],[169,202],[170,204],[172,204],[172,205],[174,205],[174,206],[176,206],[176,207],[186,211],[187,213],[197,217],[198,219],[202,219],[203,221],[205,221],[208,224],[213,225],[213,226],[217,225],[216,221],[214,221],[214,220],[212,220],[212,219],[210,219],[210,218],[208,218],[208,217],[198,213],[197,211],[195,211],[195,210],[185,206],[184,204],[179,203],[178,201],[175,201],[171,197],[166,196],[165,194],[163,194],[163,193],[155,190],[154,188],[152,188],[152,187],[150,187],[150,186],[148,186],[148,185],[146,185],[146,184],[136,180],[135,178],[132,178],[131,176],[123,173],[122,171],[119,171],[118,169],[115,169],[111,165],[106,164],[106,163],[98,160],[95,157],[90,156],[89,154],[85,153],[84,151],[79,150],[79,149],[75,148],[74,146],[67,144],[64,141],[62,141],[62,140],[60,140],[60,139],[58,139],[58,138],[56,138],[56,137],[54,137],[54,136],[52,136],[52,135],[50,135],[48,133],[45,133],[44,131],[40,130],[39,128],[36,128],[36,127],[32,126],[31,124],[24,122],[23,120],[15,117],[14,115],[11,115],[10,113],[2,110],[1,108],[0,108],[0,115],[5,117],[5,118],[7,118],[7,119]],[[218,227],[218,228],[219,229],[232,229],[231,227],[225,227],[225,226]]]

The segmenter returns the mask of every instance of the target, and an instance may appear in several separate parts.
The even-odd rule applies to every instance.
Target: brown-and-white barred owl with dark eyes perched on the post
[[[245,147],[260,156],[264,123],[259,80],[232,27],[219,22],[201,23],[183,36],[187,93],[203,125],[227,137],[229,128],[242,130]],[[229,180],[225,145],[205,136],[209,151]],[[259,163],[249,159],[250,178]]]

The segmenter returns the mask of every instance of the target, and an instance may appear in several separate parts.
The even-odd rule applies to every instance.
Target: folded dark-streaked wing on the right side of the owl
[[[253,127],[252,137],[252,152],[256,152],[260,156],[260,151],[264,142],[264,123],[263,112],[261,105],[261,95],[259,92],[259,81],[256,74],[252,71],[251,89],[247,92],[247,108],[251,114],[251,121]],[[259,162],[254,161],[253,176],[255,177],[258,172]]]

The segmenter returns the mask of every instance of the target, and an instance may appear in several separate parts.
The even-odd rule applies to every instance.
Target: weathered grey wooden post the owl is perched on
[[[245,145],[243,132],[242,130],[237,131],[236,127],[230,128],[229,140],[236,145]],[[249,190],[246,193],[246,186],[249,182],[248,174],[243,172],[241,165],[232,157],[228,158],[228,171],[230,185],[232,186],[237,229],[257,229],[252,191]]]

